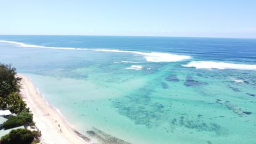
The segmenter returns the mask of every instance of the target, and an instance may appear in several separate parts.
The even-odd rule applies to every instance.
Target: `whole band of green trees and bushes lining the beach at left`
[[[6,117],[7,121],[2,125],[5,130],[35,124],[33,114],[30,113],[25,101],[22,100],[19,94],[21,78],[17,77],[16,74],[16,69],[11,65],[0,63],[0,109],[9,109],[11,113],[14,113],[14,116]],[[41,133],[38,131],[16,129],[4,135],[0,143],[38,143],[40,135]]]

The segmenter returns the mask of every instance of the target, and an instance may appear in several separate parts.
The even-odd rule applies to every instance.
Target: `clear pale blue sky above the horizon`
[[[0,0],[0,35],[256,38],[256,0]]]

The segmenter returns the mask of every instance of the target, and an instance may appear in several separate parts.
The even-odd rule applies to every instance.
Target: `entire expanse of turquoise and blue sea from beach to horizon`
[[[0,61],[99,143],[256,141],[256,39],[0,39]]]

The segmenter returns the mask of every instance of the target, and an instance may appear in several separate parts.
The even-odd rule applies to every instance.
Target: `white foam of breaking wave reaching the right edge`
[[[217,69],[239,69],[239,70],[256,70],[256,65],[244,65],[237,63],[214,62],[214,61],[191,61],[184,67],[196,68],[217,68]]]

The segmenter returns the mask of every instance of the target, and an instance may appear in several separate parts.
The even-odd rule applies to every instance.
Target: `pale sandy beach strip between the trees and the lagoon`
[[[89,143],[78,137],[73,127],[43,99],[29,78],[21,74],[17,76],[22,78],[20,92],[22,98],[33,113],[36,127],[42,133],[41,143]]]

